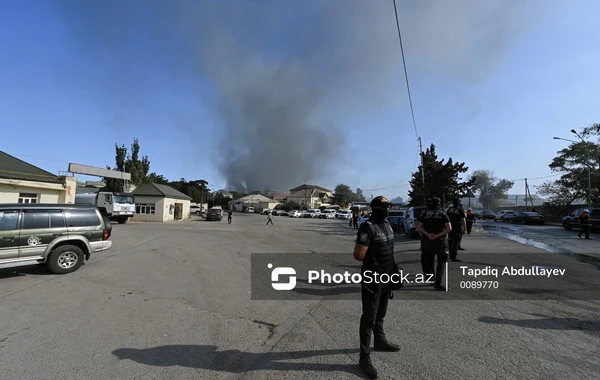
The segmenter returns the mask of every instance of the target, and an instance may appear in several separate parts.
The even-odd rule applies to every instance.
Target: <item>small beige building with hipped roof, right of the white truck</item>
[[[148,183],[132,191],[134,222],[172,222],[189,219],[191,197],[171,186]]]

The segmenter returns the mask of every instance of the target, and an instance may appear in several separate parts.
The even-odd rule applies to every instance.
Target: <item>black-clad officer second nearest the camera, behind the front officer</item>
[[[435,273],[433,284],[436,290],[446,290],[442,285],[444,277],[444,264],[448,260],[448,233],[452,231],[450,218],[440,210],[440,199],[432,198],[417,219],[417,231],[424,239],[425,257],[427,260],[427,271],[425,274]],[[437,270],[434,270],[434,261],[437,256]]]

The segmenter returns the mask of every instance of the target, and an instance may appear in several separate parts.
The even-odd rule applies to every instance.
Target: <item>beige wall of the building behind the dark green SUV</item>
[[[59,183],[0,179],[0,203],[17,203],[19,193],[38,194],[38,203],[63,203],[66,189]]]

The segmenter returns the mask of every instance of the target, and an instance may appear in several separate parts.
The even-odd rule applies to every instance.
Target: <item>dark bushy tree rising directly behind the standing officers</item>
[[[465,163],[455,163],[452,158],[446,162],[445,159],[438,160],[434,144],[421,154],[421,160],[422,164],[413,173],[410,181],[411,190],[408,196],[411,206],[422,205],[432,197],[439,197],[442,204],[445,204],[446,201],[464,196],[474,184],[473,179],[462,181],[459,177],[461,173],[469,170]],[[425,187],[423,187],[421,170],[425,175]]]

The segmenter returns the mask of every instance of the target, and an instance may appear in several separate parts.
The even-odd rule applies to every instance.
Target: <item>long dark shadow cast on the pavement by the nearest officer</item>
[[[182,366],[211,371],[243,373],[254,370],[346,372],[359,375],[357,364],[294,363],[285,360],[313,358],[325,355],[357,354],[358,349],[314,350],[251,353],[239,350],[218,351],[208,345],[169,345],[146,349],[119,348],[113,354],[120,360],[169,367]]]

